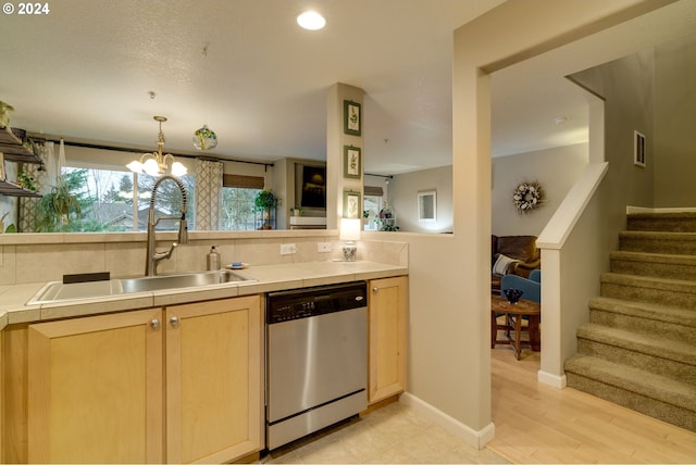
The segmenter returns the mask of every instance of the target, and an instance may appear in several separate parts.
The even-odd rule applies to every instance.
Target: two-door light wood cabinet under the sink
[[[28,326],[28,461],[233,461],[263,448],[258,296]]]

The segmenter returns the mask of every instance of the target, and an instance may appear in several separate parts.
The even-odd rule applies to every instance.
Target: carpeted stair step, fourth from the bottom
[[[601,297],[696,310],[692,280],[602,273],[599,281]]]

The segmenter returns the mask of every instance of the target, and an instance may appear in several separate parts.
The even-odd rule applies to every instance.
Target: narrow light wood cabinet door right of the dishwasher
[[[406,389],[408,278],[373,279],[369,282],[370,404]]]

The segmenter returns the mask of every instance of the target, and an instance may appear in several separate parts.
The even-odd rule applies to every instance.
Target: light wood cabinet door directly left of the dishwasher
[[[166,461],[231,462],[263,449],[259,296],[175,305],[166,322]]]

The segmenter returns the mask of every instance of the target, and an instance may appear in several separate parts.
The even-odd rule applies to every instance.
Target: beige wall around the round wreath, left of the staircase
[[[538,236],[587,165],[587,143],[493,159],[492,231],[497,236]],[[520,183],[542,186],[542,206],[520,214],[512,193]]]

